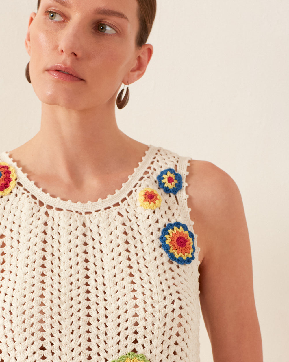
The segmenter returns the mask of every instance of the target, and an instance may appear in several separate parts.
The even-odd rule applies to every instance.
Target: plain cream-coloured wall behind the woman
[[[39,129],[40,103],[24,77],[24,38],[36,0],[1,0],[0,151]],[[180,5],[181,4],[181,5]],[[144,143],[209,160],[242,196],[251,237],[264,362],[289,350],[289,3],[158,0],[146,75],[117,110]],[[211,362],[201,325],[201,361]]]

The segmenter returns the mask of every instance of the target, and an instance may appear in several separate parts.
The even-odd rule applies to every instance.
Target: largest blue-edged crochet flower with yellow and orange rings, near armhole
[[[195,259],[194,234],[185,224],[167,224],[161,232],[160,241],[169,258],[178,264],[190,264]]]

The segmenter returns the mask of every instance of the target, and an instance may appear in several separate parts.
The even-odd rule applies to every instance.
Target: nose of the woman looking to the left
[[[83,46],[85,34],[79,29],[79,26],[69,24],[60,31],[59,34],[59,52],[66,55],[74,55],[80,58],[83,55]]]

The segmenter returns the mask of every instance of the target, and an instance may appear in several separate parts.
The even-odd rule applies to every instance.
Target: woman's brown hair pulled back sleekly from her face
[[[37,3],[37,10],[40,6],[40,1]],[[137,0],[138,2],[138,20],[139,30],[137,34],[137,46],[142,47],[150,35],[152,24],[156,16],[156,0]]]

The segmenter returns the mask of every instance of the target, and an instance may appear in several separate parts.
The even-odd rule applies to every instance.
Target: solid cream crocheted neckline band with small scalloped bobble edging
[[[49,193],[45,193],[42,188],[38,188],[34,181],[30,180],[27,176],[27,173],[22,172],[22,168],[17,166],[17,163],[9,156],[9,152],[3,152],[0,156],[1,159],[12,165],[17,174],[17,182],[20,182],[23,187],[29,191],[34,197],[42,201],[44,204],[52,206],[53,208],[59,208],[69,211],[78,211],[78,212],[92,212],[106,207],[112,207],[113,205],[120,204],[123,198],[128,196],[128,193],[133,189],[135,183],[143,175],[144,171],[150,165],[153,156],[155,156],[157,147],[150,145],[148,150],[145,152],[145,155],[142,157],[142,160],[138,163],[138,167],[134,169],[133,174],[128,176],[128,180],[122,184],[122,187],[119,190],[116,190],[114,194],[107,195],[105,199],[99,198],[98,201],[86,203],[72,202],[71,200],[65,201],[60,197],[52,197]]]

